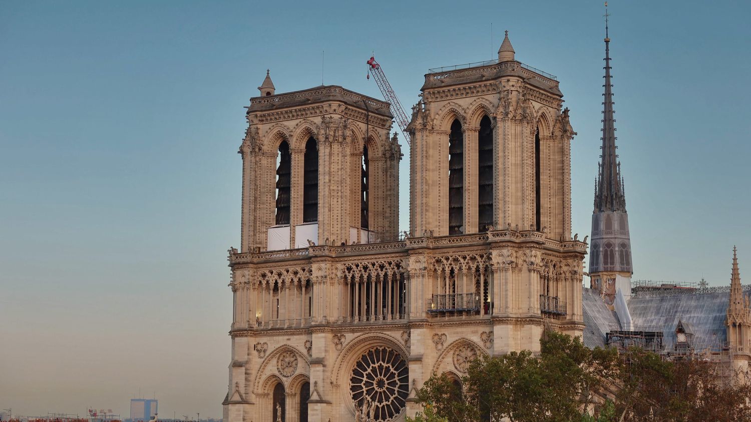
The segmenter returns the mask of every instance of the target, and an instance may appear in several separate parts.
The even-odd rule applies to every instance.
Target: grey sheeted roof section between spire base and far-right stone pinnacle
[[[678,321],[694,334],[692,348],[717,349],[727,341],[725,315],[729,292],[665,294],[632,297],[629,312],[637,330],[662,331],[663,351],[673,351]]]

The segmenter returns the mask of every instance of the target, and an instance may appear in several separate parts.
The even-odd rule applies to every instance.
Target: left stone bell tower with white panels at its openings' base
[[[258,90],[239,151],[242,251],[397,237],[401,150],[388,103],[341,86],[274,95],[268,71]]]

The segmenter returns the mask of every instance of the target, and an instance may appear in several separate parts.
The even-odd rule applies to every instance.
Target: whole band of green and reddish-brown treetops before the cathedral
[[[433,374],[418,391],[415,422],[751,420],[749,384],[720,376],[716,363],[668,361],[637,348],[585,347],[548,332],[541,353],[481,356],[460,382]]]

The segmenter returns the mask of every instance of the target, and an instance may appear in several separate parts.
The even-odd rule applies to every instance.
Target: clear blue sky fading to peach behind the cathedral
[[[751,274],[748,2],[611,2],[636,279]],[[405,107],[428,68],[516,57],[555,74],[590,231],[602,2],[0,3],[0,408],[221,416],[239,246],[243,106],[337,84]],[[495,41],[491,43],[490,24]],[[408,108],[409,110],[409,108]],[[406,150],[406,148],[405,148]],[[408,227],[402,161],[401,225]]]

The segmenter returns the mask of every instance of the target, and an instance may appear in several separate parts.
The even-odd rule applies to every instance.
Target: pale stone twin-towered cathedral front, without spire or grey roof
[[[581,336],[570,143],[559,82],[514,58],[424,76],[402,152],[389,104],[341,86],[247,107],[224,420],[405,420],[433,373]],[[357,176],[357,177],[355,177]]]

